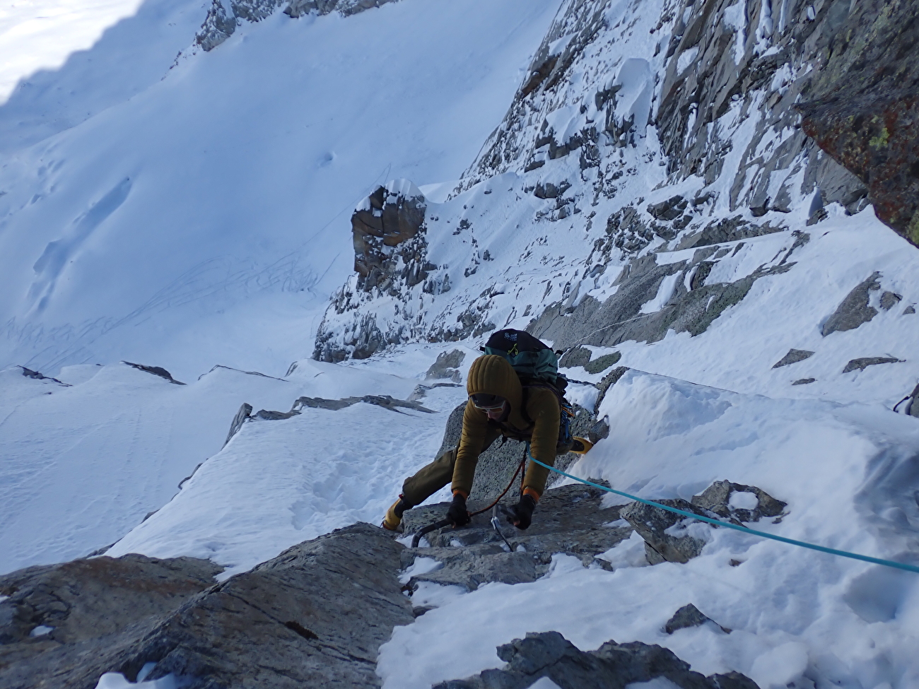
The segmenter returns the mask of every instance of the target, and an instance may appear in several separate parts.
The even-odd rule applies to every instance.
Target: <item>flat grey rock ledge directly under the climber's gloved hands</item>
[[[602,482],[601,482],[602,483]],[[437,582],[474,590],[486,582],[533,582],[549,570],[552,555],[565,553],[580,558],[584,565],[608,566],[596,556],[630,537],[628,526],[606,526],[619,518],[619,507],[603,507],[604,491],[583,484],[551,488],[543,493],[533,524],[526,531],[508,525],[498,513],[502,535],[515,548],[507,552],[504,540],[489,523],[494,510],[472,517],[462,528],[445,527],[425,536],[431,548],[408,548],[403,552],[403,568],[416,557],[437,559],[443,567],[418,574],[406,585],[414,591],[418,582]],[[515,503],[518,493],[511,491],[501,504]],[[470,500],[476,512],[492,500]],[[405,533],[443,519],[448,503],[422,505],[403,515]],[[454,544],[462,545],[456,548]]]

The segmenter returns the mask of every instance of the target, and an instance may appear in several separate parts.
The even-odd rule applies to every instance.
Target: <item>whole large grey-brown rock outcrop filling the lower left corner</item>
[[[220,584],[210,581],[220,568],[207,561],[131,555],[58,565],[58,579],[32,571],[42,568],[14,572],[0,584],[13,593],[0,607],[17,601],[40,614],[15,608],[15,619],[33,616],[14,622],[17,640],[0,646],[0,687],[93,689],[103,672],[133,681],[151,662],[148,678],[173,673],[196,689],[379,687],[380,644],[413,619],[396,578],[402,549],[378,527],[357,524]],[[71,571],[77,566],[96,570],[81,575]],[[74,581],[82,582],[77,593],[98,594],[73,596],[61,610]],[[126,599],[111,606],[108,597],[122,591]],[[22,638],[36,621],[62,631]]]

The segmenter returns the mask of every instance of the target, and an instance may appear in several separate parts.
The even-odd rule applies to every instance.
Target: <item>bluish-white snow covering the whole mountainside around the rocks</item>
[[[379,524],[403,479],[434,457],[462,387],[427,390],[419,403],[433,413],[358,402],[255,419],[224,446],[233,415],[243,402],[287,412],[301,396],[406,399],[431,382],[424,372],[438,354],[460,349],[465,375],[483,336],[428,337],[438,327],[456,333],[462,314],[525,327],[550,305],[614,294],[627,256],[611,254],[602,275],[588,273],[607,217],[626,202],[643,208],[701,188],[696,177],[668,183],[656,130],[645,127],[666,52],[652,56],[653,47],[666,45],[669,30],[650,28],[664,5],[610,6],[601,29],[608,54],[588,45],[575,58],[583,60],[577,79],[533,104],[533,127],[545,118],[561,143],[597,115],[595,86],[622,86],[616,119],[634,116],[639,136],[634,145],[597,144],[607,174],[621,175],[616,193],[596,203],[596,171],[581,170],[577,154],[457,191],[461,170],[528,76],[557,1],[401,0],[297,21],[278,13],[243,24],[209,53],[188,50],[205,10],[197,3],[84,5],[95,34],[88,24],[74,28],[58,52],[34,43],[22,60],[53,67],[69,57],[57,71],[29,75],[0,107],[0,571],[114,544],[108,555],[210,558],[225,580],[336,527]],[[12,7],[25,31],[35,13]],[[781,26],[785,6],[774,9]],[[737,30],[738,62],[744,13],[738,3],[723,15]],[[764,4],[761,49],[773,14]],[[49,40],[61,38],[61,26],[47,24]],[[107,26],[89,48],[85,37]],[[564,51],[572,35],[550,52]],[[72,52],[81,47],[89,50]],[[36,68],[23,64],[11,78]],[[706,211],[712,220],[752,220],[730,208],[734,172],[748,149],[759,155],[789,135],[750,145],[766,96],[712,123],[732,141],[724,174],[709,186],[719,194]],[[532,195],[537,183],[562,181],[572,185],[564,218],[554,199]],[[750,175],[744,188],[754,182]],[[349,213],[377,184],[425,194],[428,259],[452,288],[433,295],[418,285],[333,312],[339,332],[364,314],[382,325],[397,308],[409,315],[391,322],[415,330],[369,359],[312,361],[329,296],[353,286]],[[789,503],[781,521],[757,529],[915,563],[919,425],[891,407],[919,380],[919,316],[904,313],[919,303],[917,254],[871,209],[848,217],[831,206],[827,220],[806,225],[819,190],[792,191],[790,213],[756,220],[787,229],[722,244],[729,251],[711,259],[706,283],[779,265],[786,272],[757,279],[698,336],[590,347],[594,358],[618,352],[618,366],[630,370],[599,409],[609,437],[569,470],[648,499],[689,499],[714,480],[754,485]],[[454,235],[461,220],[469,227]],[[655,240],[641,255],[662,246]],[[482,260],[485,250],[495,260]],[[653,256],[673,265],[695,253]],[[823,337],[821,324],[875,271],[881,289],[902,300]],[[665,277],[641,312],[664,308],[679,279]],[[815,354],[773,368],[789,348]],[[902,362],[842,373],[852,358],[885,355]],[[166,367],[187,385],[121,359]],[[61,382],[24,377],[16,365]],[[603,377],[576,370],[574,378]],[[801,378],[816,380],[792,384]],[[586,407],[597,400],[590,385],[569,390]],[[736,509],[755,504],[752,493],[732,495]],[[609,639],[660,644],[698,672],[743,672],[762,689],[919,684],[912,573],[708,525],[674,531],[702,537],[702,554],[651,567],[633,534],[596,554],[612,571],[556,555],[537,582],[471,593],[422,582],[412,604],[434,609],[380,649],[384,686],[426,689],[500,667],[496,646],[542,630],[581,649]],[[438,566],[417,558],[398,575],[405,582]],[[707,625],[666,635],[667,619],[689,603],[732,633]],[[165,689],[175,678],[142,683]],[[129,684],[107,673],[98,687]],[[630,685],[638,686],[666,682]]]

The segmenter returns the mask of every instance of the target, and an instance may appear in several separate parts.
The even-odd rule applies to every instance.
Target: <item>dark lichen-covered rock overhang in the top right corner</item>
[[[919,246],[917,10],[831,3],[835,30],[799,108],[803,130],[868,187],[878,218]]]

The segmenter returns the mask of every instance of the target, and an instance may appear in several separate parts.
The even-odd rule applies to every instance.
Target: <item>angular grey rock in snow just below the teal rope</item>
[[[684,512],[710,516],[693,504],[679,498],[654,502],[667,507],[675,507]],[[705,548],[706,541],[701,538],[686,534],[673,536],[666,533],[667,529],[673,531],[672,527],[675,525],[682,525],[684,528],[678,530],[685,531],[685,526],[692,521],[688,517],[637,502],[627,504],[619,514],[644,538],[645,557],[652,565],[664,561],[685,563],[698,556],[702,548]]]

